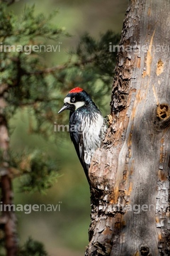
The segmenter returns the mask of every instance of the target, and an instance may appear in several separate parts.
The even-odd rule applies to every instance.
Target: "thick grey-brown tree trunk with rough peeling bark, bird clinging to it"
[[[113,81],[113,124],[89,171],[85,255],[170,255],[169,14],[169,0],[130,1]]]

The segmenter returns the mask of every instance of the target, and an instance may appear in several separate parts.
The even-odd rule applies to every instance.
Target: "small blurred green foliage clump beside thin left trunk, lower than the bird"
[[[56,171],[57,163],[38,149],[34,151],[25,149],[22,154],[9,151],[9,159],[10,166],[13,166],[13,174],[15,175],[16,171],[16,175],[21,176],[20,190],[22,192],[43,193],[59,176]]]

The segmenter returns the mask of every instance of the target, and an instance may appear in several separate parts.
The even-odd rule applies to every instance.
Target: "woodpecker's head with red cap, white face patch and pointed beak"
[[[79,107],[82,107],[89,102],[91,102],[91,97],[83,89],[76,87],[69,91],[67,96],[64,98],[64,106],[58,113],[61,113],[64,110],[74,112]]]

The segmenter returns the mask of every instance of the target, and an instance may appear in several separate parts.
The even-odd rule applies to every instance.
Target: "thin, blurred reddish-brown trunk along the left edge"
[[[4,95],[8,90],[8,85],[0,85],[0,188],[1,188],[1,207],[0,207],[0,229],[3,231],[6,247],[6,256],[16,256],[17,237],[16,237],[16,216],[11,205],[13,204],[13,189],[11,182],[11,172],[8,166],[8,126],[4,109],[6,101]],[[9,207],[4,208],[4,205]],[[2,240],[2,238],[1,238]],[[1,249],[1,248],[0,248]]]

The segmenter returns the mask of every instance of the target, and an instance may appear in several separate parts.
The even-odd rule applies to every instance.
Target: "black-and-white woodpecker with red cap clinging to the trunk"
[[[83,166],[87,181],[89,167],[96,149],[101,146],[106,134],[106,122],[90,95],[75,87],[64,98],[64,105],[58,112],[69,110],[69,134]]]

